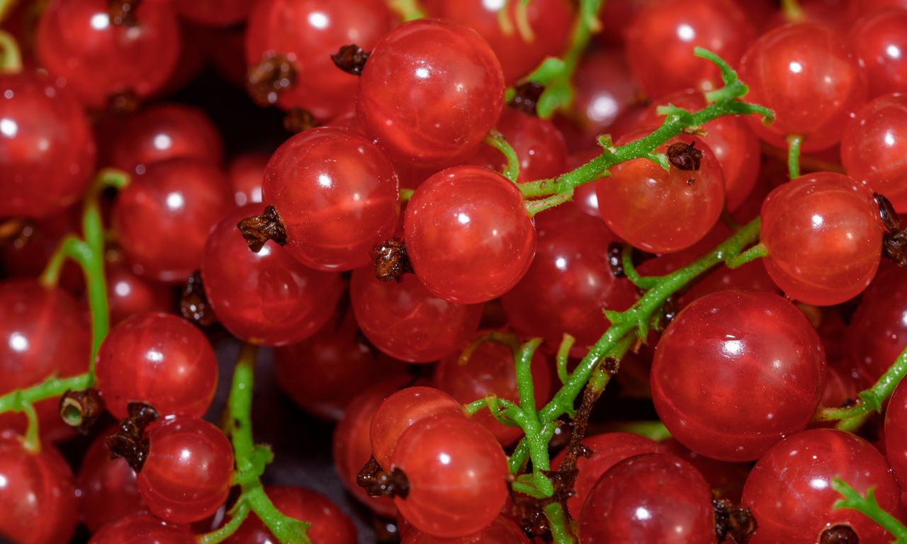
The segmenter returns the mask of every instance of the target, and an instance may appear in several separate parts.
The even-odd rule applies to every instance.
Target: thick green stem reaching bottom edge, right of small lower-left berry
[[[308,524],[280,513],[268,499],[258,478],[270,456],[269,450],[256,447],[252,438],[252,385],[255,382],[257,352],[256,346],[250,344],[243,344],[239,349],[227,403],[230,438],[236,459],[236,480],[242,488],[239,500],[248,502],[249,508],[283,544],[311,544],[307,537]]]

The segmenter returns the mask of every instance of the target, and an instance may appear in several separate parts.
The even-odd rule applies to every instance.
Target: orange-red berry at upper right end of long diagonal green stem
[[[807,174],[773,190],[762,205],[763,262],[785,295],[839,304],[872,281],[883,229],[872,191],[841,174]]]

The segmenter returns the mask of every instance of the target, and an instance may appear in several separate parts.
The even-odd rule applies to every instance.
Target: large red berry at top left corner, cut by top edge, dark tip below
[[[147,98],[170,77],[180,53],[180,26],[170,2],[145,2],[135,24],[117,24],[105,0],[54,0],[38,22],[37,51],[88,107],[116,94]]]

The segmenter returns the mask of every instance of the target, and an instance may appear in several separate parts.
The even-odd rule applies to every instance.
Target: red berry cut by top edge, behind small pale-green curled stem
[[[531,73],[547,56],[559,56],[567,46],[573,27],[574,7],[565,0],[539,0],[526,5],[526,23],[532,39],[526,40],[519,30],[502,24],[502,16],[517,21],[517,4],[466,0],[426,0],[425,11],[431,17],[469,26],[491,46],[501,61],[508,84]],[[506,10],[506,15],[501,11]]]

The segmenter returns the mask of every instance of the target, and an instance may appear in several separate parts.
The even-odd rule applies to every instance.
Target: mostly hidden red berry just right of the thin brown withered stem
[[[576,460],[578,472],[573,483],[573,496],[567,500],[567,508],[574,519],[580,518],[582,507],[586,504],[595,482],[599,481],[601,475],[611,467],[635,455],[667,452],[658,442],[629,432],[593,434],[582,439],[582,445],[587,448],[590,455],[588,457],[580,455]],[[558,453],[551,460],[551,466],[556,470],[560,469],[566,455],[566,450]]]

